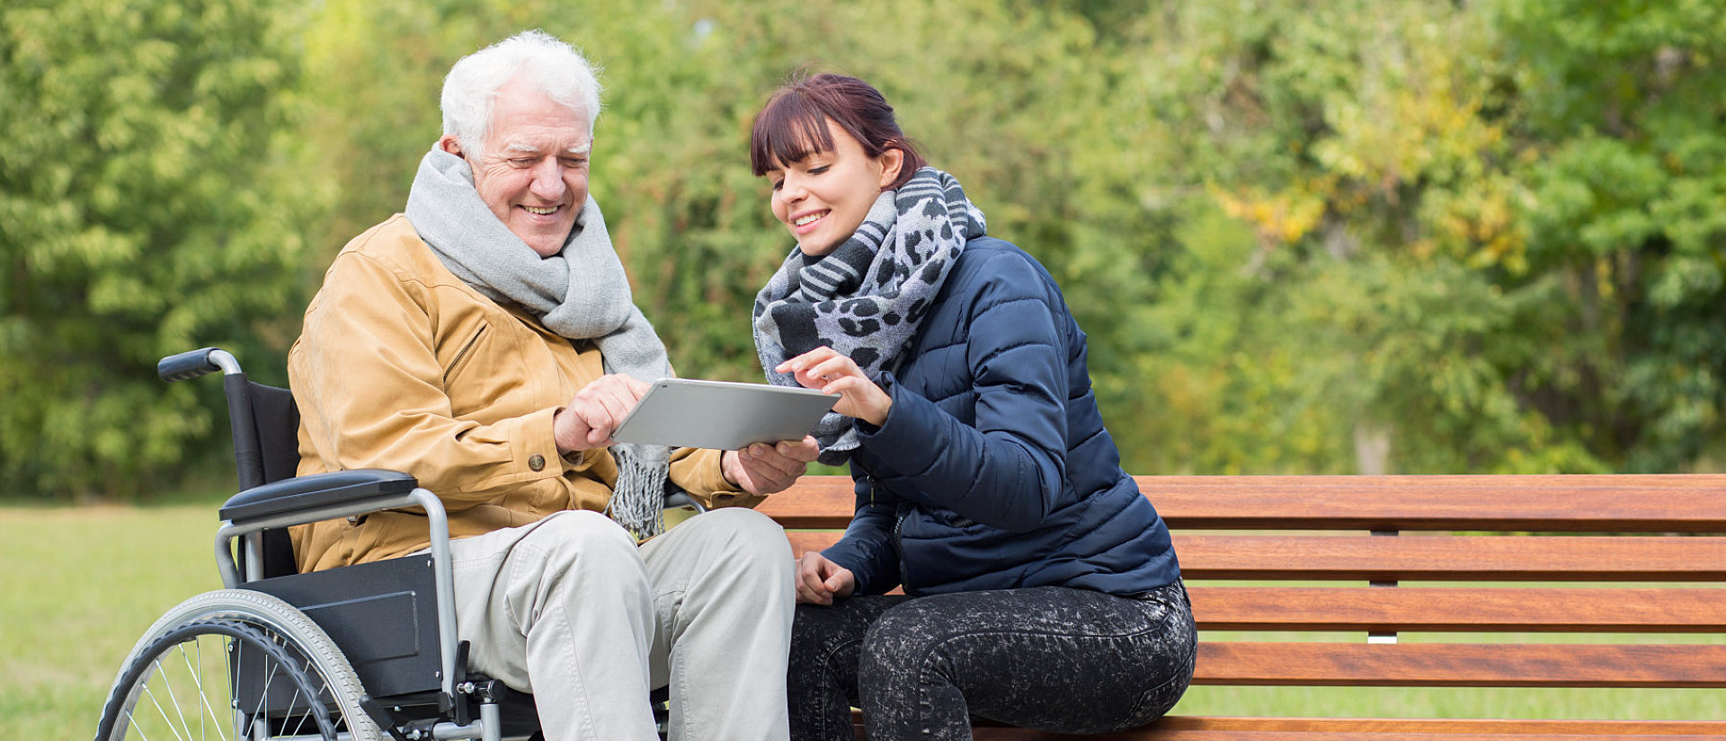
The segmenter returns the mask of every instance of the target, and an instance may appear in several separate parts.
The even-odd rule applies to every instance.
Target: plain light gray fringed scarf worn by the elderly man
[[[407,221],[449,272],[487,298],[526,308],[564,338],[592,339],[606,372],[647,383],[671,376],[665,343],[630,296],[592,196],[563,252],[542,258],[480,200],[468,162],[433,148],[419,160],[407,193]],[[665,529],[670,451],[658,445],[616,445],[611,451],[618,462],[611,519],[637,538],[658,534]]]

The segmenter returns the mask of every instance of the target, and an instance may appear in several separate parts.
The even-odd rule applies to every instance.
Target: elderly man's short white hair
[[[545,31],[521,31],[456,62],[444,78],[444,134],[475,155],[485,150],[497,90],[526,78],[557,103],[587,119],[594,134],[599,117],[599,79],[575,47]]]

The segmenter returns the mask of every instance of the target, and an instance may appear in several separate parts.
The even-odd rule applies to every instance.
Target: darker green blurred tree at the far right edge
[[[1557,339],[1531,407],[1621,470],[1726,441],[1726,7],[1502,0],[1528,272]]]

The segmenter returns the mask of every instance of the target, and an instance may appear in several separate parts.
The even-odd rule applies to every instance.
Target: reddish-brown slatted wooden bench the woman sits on
[[[1174,532],[1205,631],[1194,684],[1726,688],[1726,643],[1660,643],[1660,636],[1726,632],[1726,476],[1141,476],[1137,483]],[[804,477],[761,510],[785,526],[794,551],[825,548],[851,517],[851,479]],[[1343,638],[1300,636],[1312,632]],[[1471,643],[1483,632],[1602,636]],[[1655,643],[1621,634],[1655,634],[1641,638]],[[1006,727],[975,734],[1669,739],[1721,738],[1726,720],[1186,717],[1175,707],[1170,717],[1120,734]]]

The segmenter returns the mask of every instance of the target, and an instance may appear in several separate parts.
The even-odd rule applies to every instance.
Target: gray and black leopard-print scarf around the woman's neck
[[[822,345],[856,360],[875,383],[898,367],[965,241],[984,215],[953,176],[922,167],[875,198],[863,226],[825,257],[792,248],[756,295],[754,338],[766,379],[797,386],[773,367]],[[828,412],[815,427],[820,462],[844,464],[858,446],[851,420]]]

